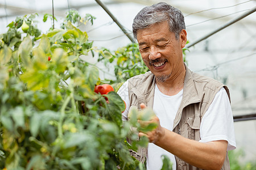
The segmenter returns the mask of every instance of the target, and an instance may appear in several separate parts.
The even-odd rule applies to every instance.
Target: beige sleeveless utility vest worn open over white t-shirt
[[[186,67],[186,75],[184,79],[183,98],[174,120],[174,132],[185,138],[200,140],[200,123],[204,113],[212,103],[217,92],[224,87],[229,99],[228,87],[217,82],[217,80],[207,78],[205,76],[193,73]],[[152,108],[155,93],[155,76],[148,71],[143,75],[134,76],[129,79],[128,83],[130,108],[140,108],[140,104],[144,103],[147,107]],[[127,139],[130,142],[129,139]],[[140,162],[146,160],[147,148],[139,148],[137,152],[131,151]],[[199,169],[176,158],[177,169]],[[228,152],[221,169],[230,169]]]

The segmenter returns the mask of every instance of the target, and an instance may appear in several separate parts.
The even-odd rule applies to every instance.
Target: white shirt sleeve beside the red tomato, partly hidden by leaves
[[[122,113],[122,120],[127,121],[128,112],[130,108],[130,100],[129,100],[129,94],[128,94],[128,81],[122,84],[122,86],[117,91],[117,94],[125,101],[126,108],[125,111]]]

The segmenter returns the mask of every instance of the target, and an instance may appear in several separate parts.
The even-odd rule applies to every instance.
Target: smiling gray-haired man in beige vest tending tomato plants
[[[183,14],[167,3],[144,7],[133,33],[148,73],[119,89],[127,107],[152,108],[158,128],[139,132],[150,143],[132,154],[147,169],[162,167],[167,155],[173,169],[230,169],[228,150],[236,148],[229,91],[214,79],[193,73],[183,62],[187,32]],[[149,122],[139,121],[141,124]]]

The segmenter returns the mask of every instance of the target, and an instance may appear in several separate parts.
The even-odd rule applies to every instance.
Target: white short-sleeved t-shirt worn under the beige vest
[[[123,121],[127,121],[127,115],[130,107],[127,85],[128,82],[123,83],[117,92],[126,103],[126,110],[122,113]],[[158,87],[155,86],[153,110],[156,116],[158,116],[160,125],[163,128],[172,131],[174,118],[181,103],[182,96],[183,90],[174,96],[167,96],[162,94]],[[224,88],[221,88],[221,90],[217,92],[212,104],[201,120],[200,137],[201,140],[199,142],[218,140],[228,141],[228,151],[236,148],[233,114],[228,95]],[[154,143],[148,143],[147,169],[161,169],[163,164],[161,155],[167,155],[168,158],[170,158],[173,163],[172,169],[175,170],[176,160],[174,155],[163,148],[154,145]]]

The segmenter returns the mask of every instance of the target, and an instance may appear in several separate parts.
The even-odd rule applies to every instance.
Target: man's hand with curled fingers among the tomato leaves
[[[146,105],[141,104],[141,109],[145,109]],[[156,124],[157,127],[153,129],[152,131],[139,131],[139,137],[145,136],[148,138],[149,142],[155,143],[157,142],[160,138],[164,137],[165,130],[162,128],[159,122],[159,118],[157,116],[152,116],[150,120],[148,121],[143,121],[143,120],[138,120],[139,124],[141,125],[142,128],[147,127],[149,124]]]

